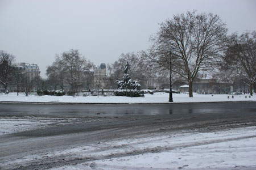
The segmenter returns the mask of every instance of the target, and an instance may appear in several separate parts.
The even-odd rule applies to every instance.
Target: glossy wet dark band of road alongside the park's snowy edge
[[[253,116],[256,102],[190,103],[190,104],[4,104],[0,116]]]

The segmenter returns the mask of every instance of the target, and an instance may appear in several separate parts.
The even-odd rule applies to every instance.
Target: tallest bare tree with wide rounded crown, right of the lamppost
[[[160,23],[160,31],[151,38],[153,45],[146,56],[159,68],[171,69],[186,79],[192,97],[197,73],[214,69],[220,61],[228,31],[225,26],[218,15],[211,13],[188,11],[174,15]]]

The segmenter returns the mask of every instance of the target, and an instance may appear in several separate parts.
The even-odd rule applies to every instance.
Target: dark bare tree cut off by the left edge
[[[5,92],[9,82],[11,82],[13,79],[14,59],[15,57],[12,54],[9,54],[3,50],[0,51],[0,83],[2,83],[5,87]]]

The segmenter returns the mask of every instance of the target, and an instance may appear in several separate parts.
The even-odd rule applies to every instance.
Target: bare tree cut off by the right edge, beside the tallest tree
[[[245,32],[229,37],[228,49],[224,58],[225,69],[244,75],[250,81],[250,95],[256,83],[256,32]]]

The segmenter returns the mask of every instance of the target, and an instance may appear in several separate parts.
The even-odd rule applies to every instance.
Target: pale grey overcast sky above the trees
[[[0,0],[0,50],[36,63],[46,78],[55,54],[78,49],[94,65],[146,50],[158,23],[187,10],[213,12],[229,33],[256,30],[256,1]]]

